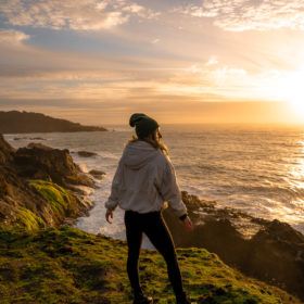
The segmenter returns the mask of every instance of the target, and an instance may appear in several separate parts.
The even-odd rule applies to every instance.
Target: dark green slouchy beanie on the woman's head
[[[143,113],[135,113],[130,116],[129,125],[135,127],[135,131],[138,138],[148,137],[160,125],[157,122]]]

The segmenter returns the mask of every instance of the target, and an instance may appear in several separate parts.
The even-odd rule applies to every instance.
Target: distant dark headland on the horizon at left
[[[0,111],[0,134],[106,131],[103,127],[83,126],[41,113]]]

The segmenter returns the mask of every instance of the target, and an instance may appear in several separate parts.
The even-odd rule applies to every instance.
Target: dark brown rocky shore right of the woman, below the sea
[[[304,236],[279,220],[255,218],[182,192],[195,228],[183,230],[169,208],[164,218],[177,246],[205,248],[242,273],[304,300]]]

